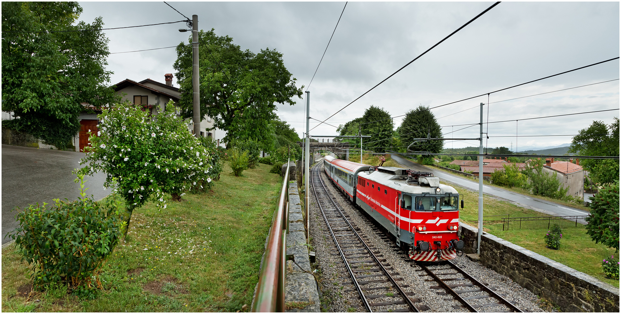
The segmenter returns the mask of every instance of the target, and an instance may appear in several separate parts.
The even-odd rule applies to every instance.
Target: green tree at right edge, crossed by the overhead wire
[[[580,130],[569,146],[569,153],[581,156],[619,156],[619,118],[605,125],[593,121]],[[582,159],[580,165],[589,171],[591,180],[598,185],[610,184],[619,179],[619,160]]]

